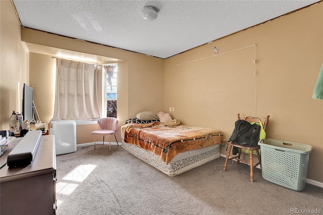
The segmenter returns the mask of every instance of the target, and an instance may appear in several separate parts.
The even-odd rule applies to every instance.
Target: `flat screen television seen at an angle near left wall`
[[[34,118],[33,92],[34,90],[24,84],[22,90],[22,116],[24,120],[31,122]]]

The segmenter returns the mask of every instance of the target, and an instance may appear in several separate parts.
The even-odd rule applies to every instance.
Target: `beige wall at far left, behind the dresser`
[[[29,81],[28,53],[10,1],[0,1],[0,128],[9,130],[12,111],[21,112],[23,84]]]

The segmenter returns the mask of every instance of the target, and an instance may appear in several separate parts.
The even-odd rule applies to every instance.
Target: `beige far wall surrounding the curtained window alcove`
[[[157,112],[164,107],[164,60],[25,28],[22,29],[22,40],[27,43],[28,47],[34,47],[34,44],[37,44],[117,59],[119,132],[125,120],[134,118],[138,112],[147,110]],[[40,119],[48,123],[53,115],[55,97],[53,77],[55,77],[56,61],[51,58],[52,55],[45,53],[44,49],[41,53],[30,52],[29,77],[30,85],[34,87],[34,100]],[[101,60],[97,63],[112,62]],[[102,70],[99,71],[97,84],[100,98],[102,96]],[[101,107],[101,101],[99,102]],[[78,144],[94,142],[92,135],[88,137],[84,135],[86,132],[81,132],[85,128],[92,131],[92,127],[92,125],[77,126]],[[100,138],[98,140],[100,141]],[[121,142],[120,133],[118,141]]]

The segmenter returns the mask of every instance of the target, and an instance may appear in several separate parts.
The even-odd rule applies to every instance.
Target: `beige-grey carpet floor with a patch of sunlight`
[[[57,155],[57,214],[323,213],[323,188],[306,184],[293,191],[265,181],[260,169],[252,183],[245,164],[215,171],[224,161],[170,177],[121,146],[79,147]]]

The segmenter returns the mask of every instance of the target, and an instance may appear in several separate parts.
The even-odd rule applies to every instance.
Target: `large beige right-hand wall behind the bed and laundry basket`
[[[270,115],[267,137],[312,145],[307,177],[323,182],[323,101],[312,98],[322,11],[321,3],[167,59],[164,109],[174,107],[170,114],[184,124],[218,128],[227,140],[237,113]]]

